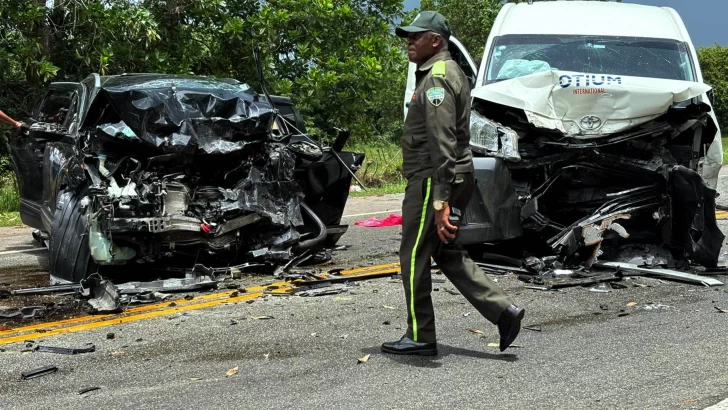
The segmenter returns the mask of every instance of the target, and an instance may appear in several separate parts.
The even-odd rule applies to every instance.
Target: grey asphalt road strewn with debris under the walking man
[[[720,190],[728,196],[728,179]],[[386,216],[399,200],[351,200],[348,221]],[[394,262],[399,228],[352,226],[341,243],[350,248],[335,254],[339,266]],[[2,252],[0,272],[43,271],[36,251]],[[42,340],[94,343],[94,353],[0,346],[0,408],[702,409],[728,397],[728,314],[715,309],[728,308],[728,288],[636,278],[610,293],[541,292],[497,279],[526,308],[524,324],[541,328],[523,330],[506,353],[488,347],[496,328],[445,282],[433,292],[440,355],[381,354],[406,316],[401,282],[376,279],[339,295],[269,296]],[[273,319],[253,319],[263,315]],[[20,380],[46,365],[59,370]]]

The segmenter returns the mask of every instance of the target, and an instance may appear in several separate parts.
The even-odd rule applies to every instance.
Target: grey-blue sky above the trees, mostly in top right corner
[[[724,27],[728,16],[728,0],[622,0],[622,2],[672,7],[682,17],[695,47],[712,46],[715,43],[728,46],[728,29]],[[404,0],[406,9],[419,5],[419,0]]]

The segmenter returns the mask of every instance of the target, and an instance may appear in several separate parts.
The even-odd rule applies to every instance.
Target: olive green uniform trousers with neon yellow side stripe
[[[458,174],[453,184],[450,206],[460,209],[463,216],[474,186],[472,173]],[[432,207],[430,178],[407,181],[402,204],[399,257],[407,302],[406,335],[416,342],[436,341],[435,312],[430,296],[430,257],[460,293],[491,323],[497,323],[501,313],[513,304],[503,290],[470,259],[462,246],[440,241],[435,225],[435,209]]]

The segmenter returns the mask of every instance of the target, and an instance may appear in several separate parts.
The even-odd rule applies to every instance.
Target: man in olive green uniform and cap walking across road
[[[407,38],[409,60],[417,64],[415,92],[402,135],[403,174],[400,264],[407,303],[407,332],[382,351],[436,355],[435,315],[430,292],[430,257],[465,298],[498,326],[500,350],[515,340],[524,311],[468,256],[452,244],[456,226],[450,206],[464,211],[473,192],[470,152],[470,84],[450,57],[450,26],[423,11],[396,34]]]

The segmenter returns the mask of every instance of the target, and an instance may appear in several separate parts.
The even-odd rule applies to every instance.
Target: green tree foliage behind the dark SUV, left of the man
[[[50,81],[90,73],[232,77],[273,93],[310,125],[354,135],[401,128],[399,0],[0,0],[0,107],[26,118]],[[392,101],[389,101],[392,99]]]

